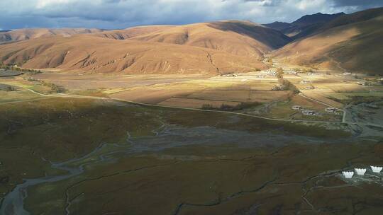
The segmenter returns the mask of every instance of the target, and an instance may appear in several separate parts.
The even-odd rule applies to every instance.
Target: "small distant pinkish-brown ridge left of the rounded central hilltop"
[[[137,26],[133,28],[126,28],[123,30],[107,30],[102,33],[95,33],[98,37],[106,37],[114,40],[126,40],[131,37],[138,37],[141,35],[147,35],[159,30],[166,30],[173,28],[174,25],[148,25],[148,26]]]

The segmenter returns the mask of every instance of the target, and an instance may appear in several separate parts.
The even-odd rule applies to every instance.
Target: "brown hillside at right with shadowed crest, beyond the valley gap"
[[[383,74],[383,8],[353,13],[283,47],[275,57],[340,71]]]

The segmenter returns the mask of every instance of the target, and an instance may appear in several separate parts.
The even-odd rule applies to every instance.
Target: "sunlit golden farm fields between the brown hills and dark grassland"
[[[284,65],[284,64],[279,64]],[[282,66],[283,67],[283,66]],[[284,68],[284,67],[283,67]],[[289,65],[285,69],[289,69]],[[353,98],[382,98],[383,86],[362,86],[360,77],[332,74],[284,74],[299,95],[292,90],[274,91],[278,79],[267,71],[253,71],[247,74],[226,74],[223,76],[199,75],[99,75],[66,74],[44,72],[13,79],[1,79],[22,88],[40,93],[54,93],[47,83],[63,88],[63,92],[73,95],[113,98],[152,105],[213,109],[226,108],[260,117],[289,120],[342,120],[342,110]],[[28,78],[28,79],[31,79]],[[252,105],[243,110],[245,104]],[[313,110],[315,115],[306,116],[293,106]],[[231,108],[229,108],[231,107]],[[326,112],[326,108],[336,108],[336,114]],[[240,109],[240,110],[237,110]]]

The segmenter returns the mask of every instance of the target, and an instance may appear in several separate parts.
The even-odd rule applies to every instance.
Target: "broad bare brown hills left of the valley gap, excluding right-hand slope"
[[[2,62],[103,73],[226,74],[265,69],[263,54],[291,41],[277,30],[243,21],[50,36],[40,31],[45,32],[33,34],[40,37],[1,45]]]

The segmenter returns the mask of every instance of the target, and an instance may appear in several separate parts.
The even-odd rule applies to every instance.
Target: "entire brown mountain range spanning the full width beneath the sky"
[[[266,69],[265,54],[294,64],[383,74],[383,8],[316,13],[292,23],[216,21],[123,30],[20,29],[0,33],[0,62],[123,74],[218,75]]]

